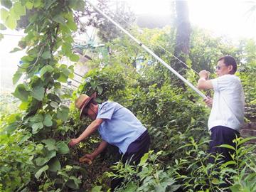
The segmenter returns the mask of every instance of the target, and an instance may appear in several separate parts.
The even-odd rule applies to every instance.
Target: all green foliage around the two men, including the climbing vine
[[[117,174],[110,170],[117,159],[113,146],[92,165],[80,164],[78,159],[95,149],[100,139],[95,133],[74,149],[68,148],[70,138],[78,137],[90,121],[80,121],[74,105],[62,102],[67,94],[61,94],[61,82],[73,77],[73,67],[60,65],[58,60],[64,55],[78,60],[71,49],[72,34],[77,29],[73,11],[85,4],[80,0],[3,2],[1,18],[9,28],[16,27],[15,21],[26,10],[36,12],[26,28],[27,36],[15,48],[27,50],[14,75],[14,83],[22,74],[28,78],[14,91],[21,104],[11,114],[5,110],[1,115],[1,191],[107,191],[112,176],[125,178],[120,191],[219,191],[225,175],[231,173],[232,191],[255,190],[255,146],[244,146],[247,139],[236,141],[240,149],[235,149],[237,156],[229,163],[235,169],[228,164],[207,164],[209,109],[198,95],[178,86],[181,82],[177,83],[174,75],[127,37],[107,45],[112,55],[90,61],[95,69],[87,73],[70,100],[73,102],[81,92],[97,92],[98,102],[114,100],[129,108],[149,130],[151,151],[137,168],[114,164],[112,169],[117,169]],[[172,28],[144,29],[143,33],[134,28],[132,33],[166,63],[174,62]],[[188,65],[211,72],[219,56],[234,55],[240,63],[238,75],[247,104],[255,104],[256,86],[250,78],[256,68],[254,41],[234,45],[194,29],[190,50]],[[186,78],[196,82],[191,70],[186,71]]]

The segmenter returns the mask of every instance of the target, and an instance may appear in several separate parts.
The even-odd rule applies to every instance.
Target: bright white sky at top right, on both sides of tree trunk
[[[170,0],[126,0],[136,14],[159,14],[170,12]],[[212,31],[215,35],[230,38],[256,39],[256,8],[248,14],[256,0],[189,0],[189,18],[194,26]]]

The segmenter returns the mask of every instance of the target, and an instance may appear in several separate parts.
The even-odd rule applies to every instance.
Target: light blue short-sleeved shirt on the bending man
[[[124,154],[129,144],[141,136],[146,128],[127,108],[117,102],[103,102],[99,105],[97,119],[104,119],[98,131],[102,139],[119,148]]]

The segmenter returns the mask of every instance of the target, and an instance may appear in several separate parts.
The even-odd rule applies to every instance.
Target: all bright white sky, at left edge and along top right
[[[97,0],[95,0],[97,1]],[[114,1],[114,0],[112,0]],[[125,0],[132,6],[135,14],[168,14],[171,0]],[[256,7],[256,0],[189,0],[189,17],[194,26],[206,28],[214,35],[228,38],[255,38],[256,8],[253,14],[247,14],[250,7]],[[16,31],[0,31],[15,33]],[[17,45],[20,36],[5,36],[0,41],[0,90],[12,86],[12,75],[23,52],[9,53]],[[4,81],[4,84],[2,83]]]

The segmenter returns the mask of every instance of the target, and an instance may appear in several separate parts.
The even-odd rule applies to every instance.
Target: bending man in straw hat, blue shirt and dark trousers
[[[86,154],[85,157],[92,161],[107,144],[112,144],[119,148],[123,163],[129,161],[130,164],[139,164],[142,156],[149,151],[150,139],[146,128],[127,108],[117,102],[103,102],[98,105],[95,97],[96,93],[90,97],[82,94],[75,101],[75,107],[80,110],[80,119],[87,116],[93,121],[80,137],[70,140],[69,146],[82,142],[97,129],[102,142],[92,154]],[[121,183],[122,179],[113,179],[112,190]]]

